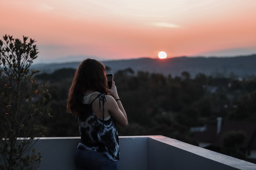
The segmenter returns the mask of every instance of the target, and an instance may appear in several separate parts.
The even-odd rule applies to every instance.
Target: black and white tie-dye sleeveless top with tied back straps
[[[94,92],[92,94],[99,93]],[[104,119],[104,102],[107,101],[104,94],[94,99],[103,102],[103,118],[98,118],[92,111],[92,101],[88,103],[92,94],[84,96],[84,114],[77,118],[81,141],[77,148],[82,150],[103,152],[110,160],[119,160],[119,141],[116,121],[111,115]],[[100,108],[101,109],[101,108]]]

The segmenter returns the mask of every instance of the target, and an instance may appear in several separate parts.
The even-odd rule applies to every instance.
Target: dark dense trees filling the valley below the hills
[[[79,136],[75,116],[66,112],[75,71],[60,69],[36,76],[52,95],[53,117],[43,121],[46,137]],[[186,71],[172,77],[125,69],[114,74],[114,81],[129,122],[118,128],[119,136],[164,135],[196,144],[189,129],[217,124],[217,117],[256,121],[256,78],[219,78],[203,73],[191,78]]]

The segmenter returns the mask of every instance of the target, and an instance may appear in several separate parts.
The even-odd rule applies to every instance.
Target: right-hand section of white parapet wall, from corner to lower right
[[[148,138],[150,169],[256,169],[256,165],[241,159],[213,152],[164,136]],[[155,163],[152,160],[158,159]],[[161,161],[163,160],[163,161]],[[167,167],[166,167],[167,166]]]

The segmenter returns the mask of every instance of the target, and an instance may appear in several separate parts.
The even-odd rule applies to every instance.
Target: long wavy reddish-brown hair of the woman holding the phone
[[[67,112],[80,116],[82,98],[87,90],[108,94],[108,80],[105,66],[97,60],[86,59],[78,66],[68,91]]]

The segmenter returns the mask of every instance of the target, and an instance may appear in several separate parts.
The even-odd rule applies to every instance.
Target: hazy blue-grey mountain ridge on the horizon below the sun
[[[62,68],[77,69],[80,62],[35,64],[31,69],[41,72],[53,72]],[[111,73],[126,68],[149,73],[162,73],[164,75],[180,76],[183,71],[195,77],[198,73],[205,75],[225,76],[236,75],[239,77],[256,76],[256,54],[236,57],[175,57],[167,59],[139,58],[127,60],[102,61],[105,66],[111,68]]]

